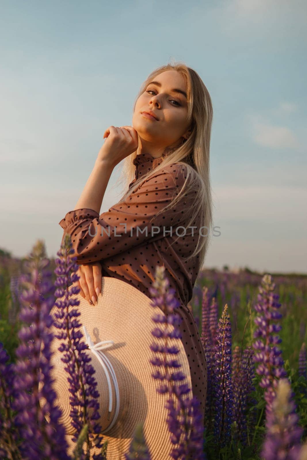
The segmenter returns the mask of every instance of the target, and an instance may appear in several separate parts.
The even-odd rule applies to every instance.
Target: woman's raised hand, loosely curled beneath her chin
[[[132,126],[110,126],[105,130],[104,138],[97,160],[107,161],[112,167],[135,152],[139,145],[138,133]]]

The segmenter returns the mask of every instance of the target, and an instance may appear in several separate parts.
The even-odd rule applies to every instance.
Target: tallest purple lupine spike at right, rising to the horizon
[[[255,311],[259,315],[254,320],[258,326],[254,332],[254,338],[259,338],[253,343],[255,350],[258,350],[254,355],[254,362],[260,363],[256,372],[263,376],[259,385],[261,388],[265,388],[266,423],[269,420],[268,413],[275,397],[277,379],[287,376],[287,372],[283,368],[284,361],[279,356],[282,351],[276,346],[282,340],[279,339],[278,335],[273,335],[280,331],[281,326],[275,322],[282,317],[281,313],[277,311],[281,304],[278,303],[278,294],[272,292],[274,288],[275,284],[272,282],[271,275],[264,275],[257,297],[258,303],[255,305]]]

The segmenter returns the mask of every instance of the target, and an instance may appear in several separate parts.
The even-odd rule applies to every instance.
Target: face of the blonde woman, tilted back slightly
[[[136,102],[132,125],[141,139],[141,152],[161,156],[166,147],[179,146],[188,137],[186,85],[176,70],[167,70],[154,78]],[[180,91],[178,91],[180,90]],[[158,120],[146,118],[151,110]]]

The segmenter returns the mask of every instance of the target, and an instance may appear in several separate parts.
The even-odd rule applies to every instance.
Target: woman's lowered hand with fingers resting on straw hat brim
[[[76,274],[79,280],[73,283],[80,289],[80,295],[87,300],[90,305],[95,305],[98,295],[101,292],[101,265],[98,262],[87,265],[79,265]],[[92,300],[93,304],[90,303]]]

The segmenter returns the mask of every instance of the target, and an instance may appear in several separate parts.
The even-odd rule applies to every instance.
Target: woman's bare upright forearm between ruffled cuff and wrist
[[[87,179],[87,183],[81,193],[75,209],[89,208],[100,213],[104,192],[113,171],[113,165],[108,160],[96,160],[93,171]]]

